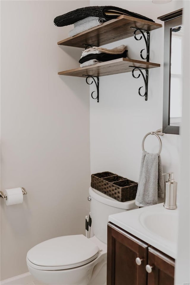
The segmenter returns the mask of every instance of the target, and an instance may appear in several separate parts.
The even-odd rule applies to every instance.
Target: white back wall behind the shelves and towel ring
[[[90,5],[107,5],[107,2],[90,1]],[[155,5],[152,1],[109,1],[109,5],[137,12],[164,24],[157,17],[180,9],[182,1],[164,5]],[[145,48],[143,39],[136,41],[131,37],[106,47],[121,44],[127,45],[129,58],[141,60],[140,50]],[[143,137],[162,128],[163,48],[162,27],[150,32],[150,61],[160,63],[161,67],[149,69],[148,101],[138,95],[139,87],[144,86],[142,76],[135,79],[128,72],[100,77],[99,103],[90,101],[91,173],[111,171],[138,181]],[[161,140],[164,172],[175,172],[175,180],[179,182],[181,137],[165,134]],[[155,136],[147,137],[145,150],[159,150]]]

